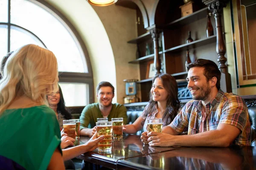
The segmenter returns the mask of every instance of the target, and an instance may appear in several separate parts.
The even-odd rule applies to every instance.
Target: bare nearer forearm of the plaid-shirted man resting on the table
[[[222,130],[209,130],[194,135],[175,136],[174,145],[228,147],[230,139]]]

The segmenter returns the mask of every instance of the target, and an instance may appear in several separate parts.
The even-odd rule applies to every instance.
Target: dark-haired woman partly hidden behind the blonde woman
[[[47,96],[47,100],[49,107],[55,111],[61,129],[63,129],[63,120],[72,119],[72,115],[65,108],[65,101],[59,85],[58,88],[59,90],[56,93]]]

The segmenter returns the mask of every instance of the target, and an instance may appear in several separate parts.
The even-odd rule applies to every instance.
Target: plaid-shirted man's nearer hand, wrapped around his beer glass
[[[148,144],[149,146],[173,146],[175,136],[167,133],[149,132],[148,133]]]

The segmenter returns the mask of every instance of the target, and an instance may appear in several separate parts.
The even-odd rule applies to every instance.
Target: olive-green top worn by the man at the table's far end
[[[108,115],[108,121],[111,118],[122,117],[124,119],[124,125],[127,123],[127,113],[124,105],[115,103],[112,105],[111,111]],[[80,130],[84,127],[92,128],[96,126],[97,118],[103,118],[101,111],[99,110],[99,103],[93,103],[85,106],[80,116]],[[90,126],[89,126],[90,125]]]

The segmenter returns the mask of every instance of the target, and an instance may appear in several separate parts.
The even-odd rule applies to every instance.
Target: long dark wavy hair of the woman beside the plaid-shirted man
[[[162,81],[163,87],[168,93],[166,111],[163,114],[163,125],[166,126],[173,121],[180,108],[180,100],[178,99],[178,85],[176,79],[170,74],[157,74],[152,80],[152,85],[154,83],[154,80],[157,78]],[[155,102],[152,98],[151,91],[149,92],[149,96],[149,104],[145,110],[146,115],[148,115],[149,113],[153,113],[156,109],[155,105],[157,104],[157,102]]]

